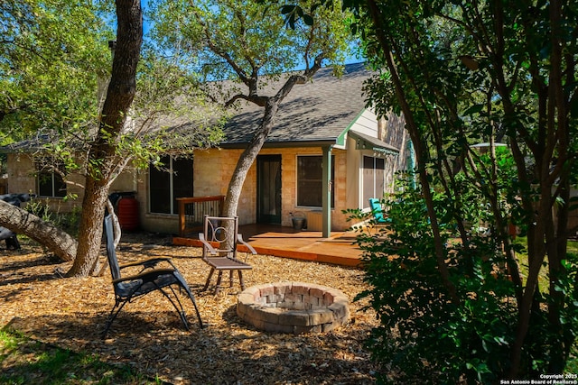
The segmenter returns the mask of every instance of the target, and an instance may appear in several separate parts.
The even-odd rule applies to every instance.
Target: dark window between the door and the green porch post
[[[331,157],[331,180],[335,175],[335,157]],[[297,206],[323,206],[323,157],[297,157]],[[331,189],[331,207],[335,198]]]

